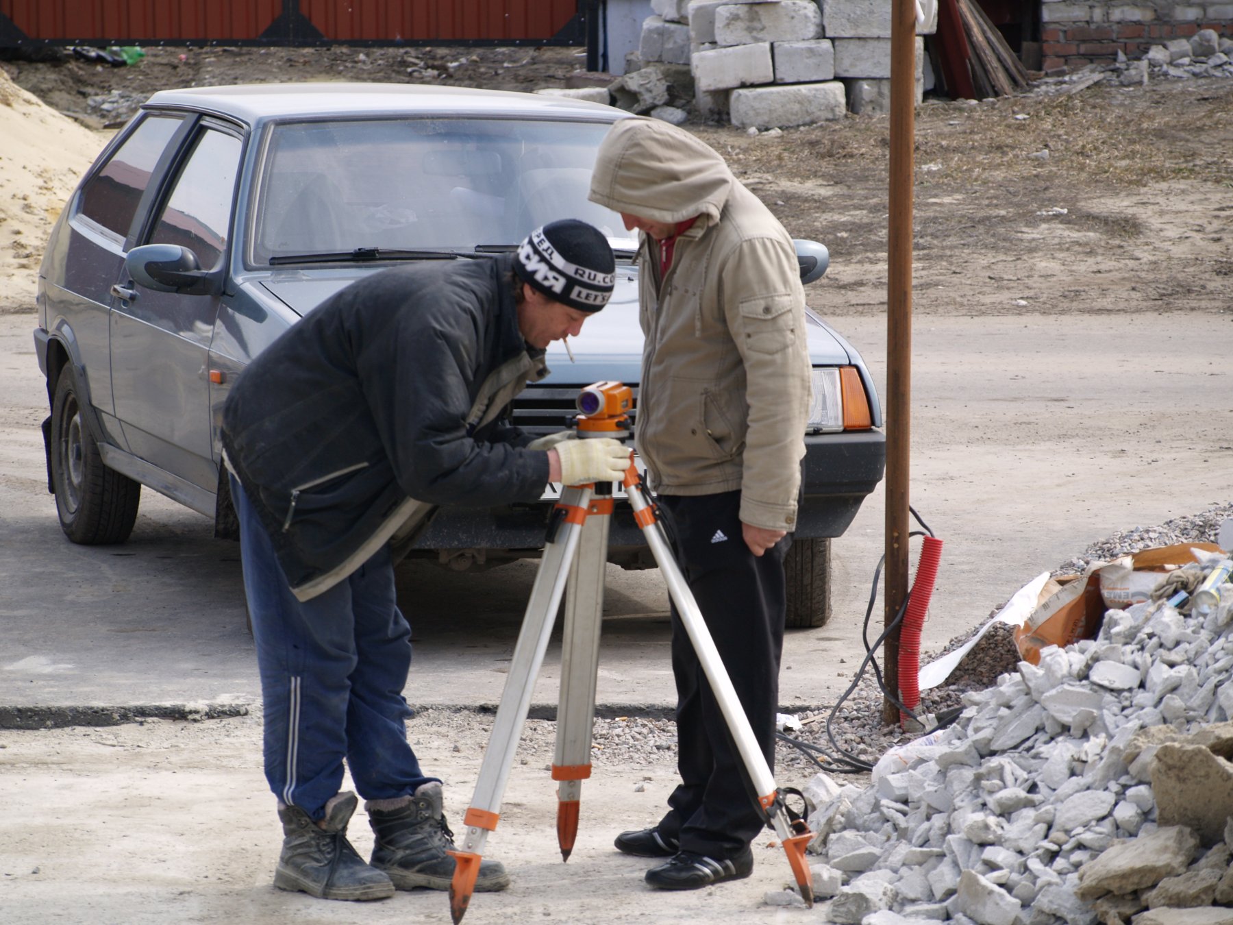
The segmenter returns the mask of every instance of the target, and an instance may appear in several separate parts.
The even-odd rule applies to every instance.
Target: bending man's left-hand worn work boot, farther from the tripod
[[[339,793],[326,804],[321,825],[300,807],[280,805],[282,855],[274,871],[274,886],[318,899],[392,897],[390,878],[364,863],[346,840],[346,823],[356,805],[354,793]]]

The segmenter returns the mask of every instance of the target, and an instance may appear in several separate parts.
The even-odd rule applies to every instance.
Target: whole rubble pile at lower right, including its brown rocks
[[[1186,569],[1217,567],[1200,555]],[[1194,916],[1233,903],[1233,586],[1221,592],[1206,613],[1108,610],[1096,639],[964,694],[952,726],[889,752],[869,787],[816,776],[829,920],[1090,925],[1150,906],[1138,925],[1233,921]]]

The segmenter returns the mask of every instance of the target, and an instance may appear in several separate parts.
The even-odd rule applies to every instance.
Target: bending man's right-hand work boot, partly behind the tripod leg
[[[391,804],[392,808],[391,808]],[[377,807],[383,807],[379,809]],[[441,784],[420,784],[413,797],[401,800],[370,800],[364,804],[369,825],[376,835],[372,866],[383,871],[398,889],[449,889],[454,878],[454,832],[441,813]],[[481,861],[475,882],[477,893],[493,893],[509,886],[509,874],[499,861]]]

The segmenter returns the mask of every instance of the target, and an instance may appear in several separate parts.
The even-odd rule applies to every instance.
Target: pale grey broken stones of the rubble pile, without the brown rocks
[[[1186,569],[1208,575],[1211,559]],[[1155,830],[1150,742],[1161,726],[1187,734],[1233,715],[1224,587],[1202,613],[1110,609],[1097,639],[968,693],[958,722],[869,787],[810,782],[811,847],[827,861],[814,881],[835,897],[826,920],[1094,925],[1088,900],[1104,890],[1085,866]]]

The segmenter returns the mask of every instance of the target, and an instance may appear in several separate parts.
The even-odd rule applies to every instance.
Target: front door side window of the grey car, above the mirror
[[[197,136],[149,243],[185,247],[203,270],[218,265],[227,249],[240,148],[240,139],[226,132],[207,128]]]

